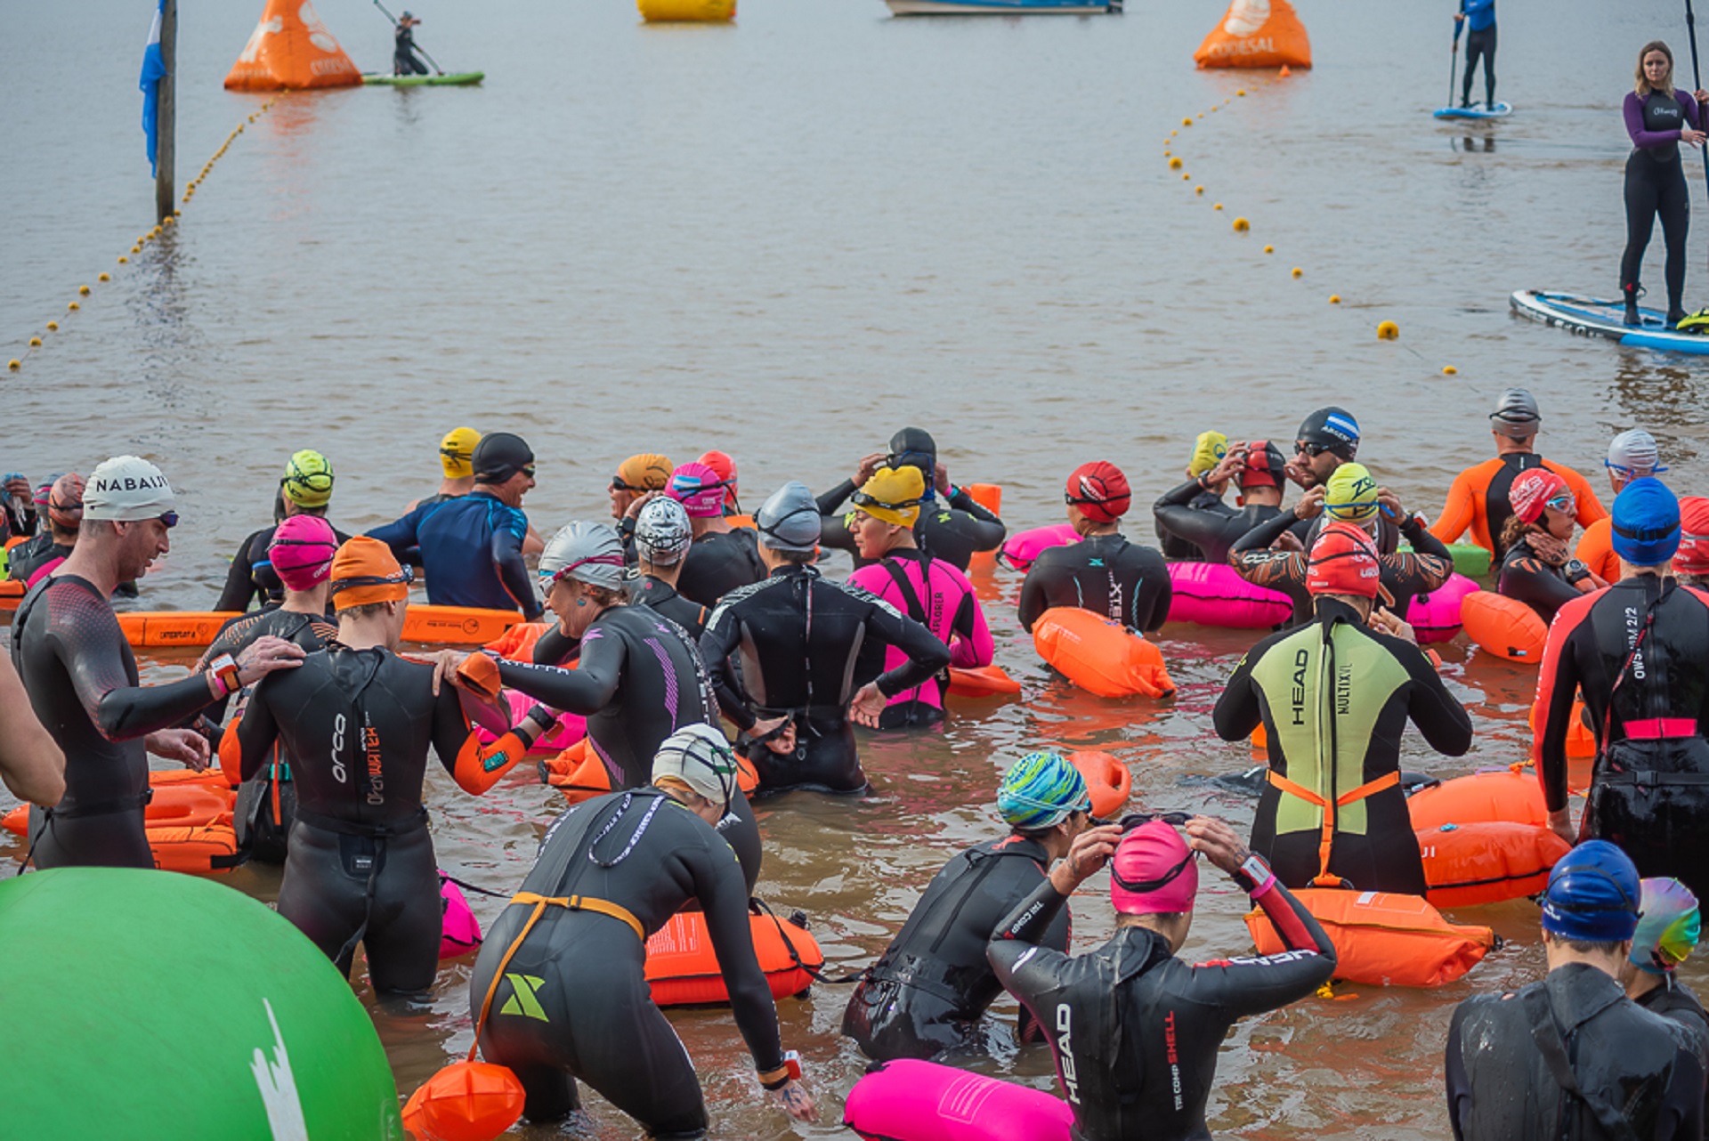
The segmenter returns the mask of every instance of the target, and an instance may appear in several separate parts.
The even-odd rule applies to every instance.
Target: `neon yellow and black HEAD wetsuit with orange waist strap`
[[[1441,753],[1471,748],[1471,717],[1412,642],[1323,598],[1316,618],[1271,634],[1236,666],[1217,702],[1217,734],[1239,741],[1263,719],[1270,784],[1253,851],[1289,886],[1336,878],[1365,892],[1425,890],[1400,791],[1407,719]]]

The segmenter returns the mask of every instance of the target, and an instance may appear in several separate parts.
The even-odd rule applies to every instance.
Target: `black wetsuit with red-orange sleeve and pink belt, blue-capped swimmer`
[[[1641,875],[1678,876],[1697,893],[1709,892],[1706,598],[1653,574],[1583,594],[1555,617],[1536,680],[1535,757],[1548,810],[1567,806],[1565,740],[1572,697],[1583,693],[1598,748],[1581,837],[1612,840]]]

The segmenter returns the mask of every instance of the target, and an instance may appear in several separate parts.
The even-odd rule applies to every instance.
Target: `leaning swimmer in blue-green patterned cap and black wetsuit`
[[[991,931],[1085,832],[1092,798],[1085,779],[1060,755],[1027,753],[1003,775],[996,808],[1010,834],[974,844],[943,864],[890,946],[854,986],[843,1033],[866,1057],[933,1059],[981,1044],[979,1020],[1003,992],[984,955]],[[1068,950],[1066,909],[1039,945]],[[1020,1037],[1034,1037],[1037,1025],[1025,1015],[1020,1021]]]

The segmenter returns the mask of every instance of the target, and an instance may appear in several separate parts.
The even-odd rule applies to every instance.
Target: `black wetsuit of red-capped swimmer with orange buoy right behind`
[[[1039,553],[1020,584],[1020,629],[1031,630],[1051,606],[1078,606],[1133,630],[1155,630],[1169,618],[1172,598],[1162,555],[1121,535],[1094,535]]]

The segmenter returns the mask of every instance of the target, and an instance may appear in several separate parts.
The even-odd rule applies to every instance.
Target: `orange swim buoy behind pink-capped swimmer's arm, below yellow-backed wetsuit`
[[[1495,950],[1489,927],[1442,919],[1422,895],[1301,888],[1306,905],[1335,945],[1335,977],[1395,987],[1439,987],[1466,974]],[[1260,955],[1287,950],[1261,910],[1246,916]]]

